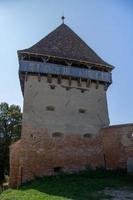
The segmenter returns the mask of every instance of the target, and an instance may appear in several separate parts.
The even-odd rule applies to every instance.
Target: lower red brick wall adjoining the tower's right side
[[[101,136],[107,169],[131,170],[129,165],[133,159],[133,124],[104,128]]]

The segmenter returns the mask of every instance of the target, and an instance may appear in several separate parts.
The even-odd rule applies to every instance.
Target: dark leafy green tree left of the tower
[[[0,104],[0,180],[9,173],[9,146],[20,138],[21,122],[18,105]]]

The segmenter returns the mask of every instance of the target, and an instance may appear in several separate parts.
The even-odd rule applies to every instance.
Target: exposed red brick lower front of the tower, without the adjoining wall
[[[89,138],[78,134],[62,134],[52,137],[47,129],[24,128],[25,133],[29,133],[29,130],[30,135],[27,134],[22,142],[23,181],[52,175],[56,167],[63,172],[70,172],[88,166],[103,166],[103,149],[98,136]]]

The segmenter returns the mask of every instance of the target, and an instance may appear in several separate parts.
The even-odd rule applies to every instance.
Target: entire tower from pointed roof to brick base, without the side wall
[[[109,125],[113,67],[64,23],[18,57],[24,111],[12,185],[103,165],[98,133]]]

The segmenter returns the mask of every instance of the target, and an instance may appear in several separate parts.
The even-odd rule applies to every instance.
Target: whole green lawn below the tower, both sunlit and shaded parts
[[[104,170],[43,177],[1,193],[0,200],[100,200],[105,188],[133,189],[133,176]],[[106,199],[110,199],[106,196]]]

